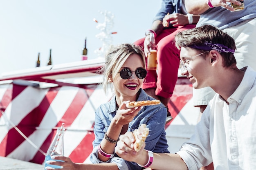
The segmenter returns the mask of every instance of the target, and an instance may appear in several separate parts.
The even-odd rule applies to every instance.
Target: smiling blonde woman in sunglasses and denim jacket
[[[112,46],[106,54],[106,65],[101,69],[103,88],[112,84],[112,99],[102,104],[95,113],[92,164],[73,163],[67,157],[56,157],[65,162],[53,162],[65,170],[141,170],[135,162],[125,161],[115,154],[119,136],[132,132],[141,124],[149,128],[145,149],[157,153],[169,153],[164,130],[167,109],[160,105],[126,108],[128,101],[154,100],[148,96],[141,85],[147,75],[144,52],[134,44]]]

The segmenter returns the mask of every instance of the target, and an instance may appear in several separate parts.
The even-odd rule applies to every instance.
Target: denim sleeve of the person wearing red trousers
[[[172,1],[171,0],[163,0],[162,4],[161,4],[161,8],[155,15],[155,18],[153,19],[153,21],[155,21],[155,20],[163,21],[163,18],[167,13],[171,14],[173,12],[175,12],[175,8],[173,7]]]

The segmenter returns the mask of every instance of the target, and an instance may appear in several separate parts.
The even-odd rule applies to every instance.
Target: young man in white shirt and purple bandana
[[[256,169],[256,72],[237,68],[234,39],[214,26],[182,31],[175,40],[182,75],[193,88],[209,86],[216,95],[176,154],[135,152],[130,132],[120,136],[115,152],[151,169],[198,170],[211,162],[218,170]]]

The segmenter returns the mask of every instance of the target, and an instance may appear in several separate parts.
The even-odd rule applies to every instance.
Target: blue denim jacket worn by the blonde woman
[[[154,98],[148,96],[141,88],[139,90],[139,97],[137,101],[154,100]],[[104,138],[104,133],[107,132],[111,120],[117,113],[116,98],[112,97],[110,102],[101,104],[96,110],[94,134],[95,139],[92,143],[93,151],[90,155],[90,161],[92,163],[104,163],[98,159],[98,146],[101,140]],[[146,138],[146,150],[151,150],[156,153],[169,153],[168,144],[166,140],[166,132],[164,129],[167,116],[166,107],[161,103],[160,105],[144,106],[136,117],[129,123],[128,131],[133,131],[141,124],[146,124],[149,128],[149,134]],[[108,160],[106,163],[116,163],[119,170],[141,170],[141,167],[137,163],[125,161],[115,154],[115,157]]]

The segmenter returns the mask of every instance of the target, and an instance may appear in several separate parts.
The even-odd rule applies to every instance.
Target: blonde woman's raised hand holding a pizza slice
[[[139,111],[143,106],[141,107],[135,107],[135,108],[127,108],[126,104],[130,101],[122,102],[119,106],[117,113],[115,117],[113,118],[114,121],[116,121],[116,124],[119,125],[126,125],[132,121],[132,119],[138,115]]]

